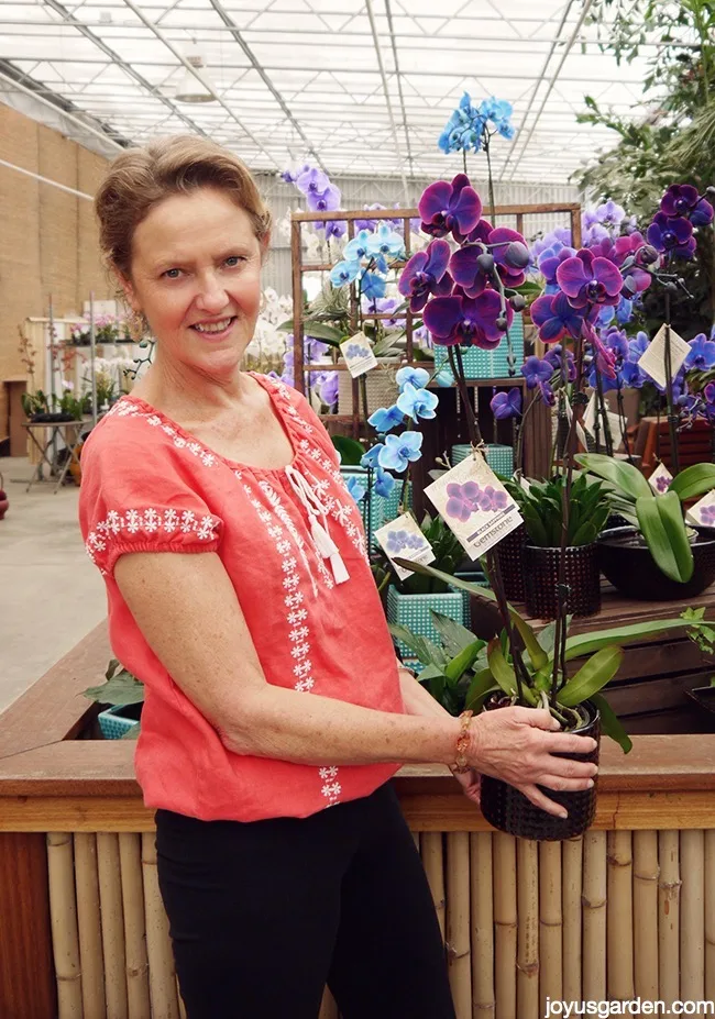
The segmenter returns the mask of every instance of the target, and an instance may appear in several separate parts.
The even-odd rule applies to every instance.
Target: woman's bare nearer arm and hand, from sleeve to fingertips
[[[216,553],[129,553],[114,577],[152,651],[234,753],[316,765],[454,762],[455,718],[394,715],[267,683]],[[546,711],[486,712],[470,728],[470,764],[539,806],[536,783],[584,788],[594,766],[551,751],[583,753],[588,741],[543,731],[553,726]]]

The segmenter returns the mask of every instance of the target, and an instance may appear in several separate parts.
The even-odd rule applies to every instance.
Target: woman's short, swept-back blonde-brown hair
[[[208,139],[178,134],[128,148],[112,162],[97,196],[99,244],[110,268],[131,279],[134,231],[154,206],[172,195],[210,187],[224,191],[248,212],[261,242],[271,231],[271,212],[249,168]]]

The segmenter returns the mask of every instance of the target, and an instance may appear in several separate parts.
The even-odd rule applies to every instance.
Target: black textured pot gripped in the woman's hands
[[[581,705],[588,712],[588,722],[580,729],[574,729],[576,735],[593,736],[597,741],[594,751],[587,754],[558,754],[559,757],[571,757],[574,761],[592,761],[598,763],[601,750],[601,715],[590,701]],[[495,710],[501,710],[496,708]],[[482,776],[481,805],[482,813],[494,828],[505,831],[519,839],[536,839],[539,842],[559,842],[561,839],[573,839],[593,823],[596,812],[597,779],[591,789],[579,793],[557,793],[554,789],[539,787],[554,802],[565,807],[568,818],[557,818],[526,798],[514,786],[490,775]]]

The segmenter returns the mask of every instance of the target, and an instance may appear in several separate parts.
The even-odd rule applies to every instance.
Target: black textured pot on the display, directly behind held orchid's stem
[[[596,543],[564,549],[563,583],[568,585],[568,611],[573,616],[595,616],[601,611],[601,579]],[[559,614],[560,549],[526,545],[526,610],[535,619],[556,619]]]

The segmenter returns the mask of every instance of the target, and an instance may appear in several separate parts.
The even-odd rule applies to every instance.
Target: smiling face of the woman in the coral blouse
[[[163,359],[210,376],[235,370],[258,314],[262,255],[249,214],[216,188],[151,210],[134,231],[124,286]]]

